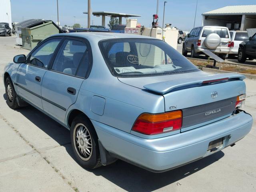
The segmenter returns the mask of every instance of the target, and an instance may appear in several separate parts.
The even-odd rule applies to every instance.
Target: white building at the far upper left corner
[[[0,22],[9,23],[12,28],[12,12],[10,0],[0,0]]]

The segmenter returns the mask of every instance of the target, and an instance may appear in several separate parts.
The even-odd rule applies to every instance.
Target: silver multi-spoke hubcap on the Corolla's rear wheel
[[[92,139],[84,124],[78,123],[75,126],[73,140],[79,157],[84,161],[88,161],[92,156]]]

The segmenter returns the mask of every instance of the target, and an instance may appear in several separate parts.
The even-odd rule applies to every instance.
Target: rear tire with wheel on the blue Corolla
[[[84,115],[74,118],[70,128],[70,140],[76,161],[86,169],[102,166],[98,136],[92,122]]]

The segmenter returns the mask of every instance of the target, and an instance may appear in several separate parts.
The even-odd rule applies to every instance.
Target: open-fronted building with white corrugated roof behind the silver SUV
[[[225,26],[230,30],[256,28],[256,5],[226,6],[202,16],[202,26]]]

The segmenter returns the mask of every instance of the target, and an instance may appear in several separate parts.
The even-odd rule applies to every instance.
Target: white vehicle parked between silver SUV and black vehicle
[[[237,55],[239,44],[249,39],[247,31],[229,31],[231,36],[229,55]]]

